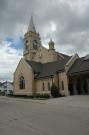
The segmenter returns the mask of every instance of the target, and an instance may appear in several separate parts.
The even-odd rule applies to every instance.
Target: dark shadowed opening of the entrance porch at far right
[[[70,76],[68,87],[70,95],[89,94],[89,74]]]

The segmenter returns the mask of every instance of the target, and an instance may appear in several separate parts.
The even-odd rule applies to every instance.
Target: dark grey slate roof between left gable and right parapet
[[[63,72],[64,66],[68,62],[70,57],[65,57],[62,60],[48,62],[45,64],[34,62],[34,61],[26,61],[33,69],[35,73],[37,73],[36,79],[45,78],[48,76],[54,75],[56,72]]]

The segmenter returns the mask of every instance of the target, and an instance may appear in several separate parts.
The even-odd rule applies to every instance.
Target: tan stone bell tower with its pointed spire
[[[39,33],[36,32],[35,25],[33,22],[33,16],[31,15],[28,30],[24,35],[24,52],[23,56],[26,60],[33,60],[35,53],[41,46],[41,40]]]

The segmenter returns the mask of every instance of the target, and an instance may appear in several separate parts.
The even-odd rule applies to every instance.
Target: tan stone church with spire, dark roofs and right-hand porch
[[[33,17],[24,35],[24,51],[14,72],[14,95],[49,93],[54,83],[62,95],[89,93],[89,55],[68,56],[55,50],[50,40],[49,49],[42,46]]]

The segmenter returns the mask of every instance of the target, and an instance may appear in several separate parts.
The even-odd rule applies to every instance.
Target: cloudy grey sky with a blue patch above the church
[[[13,81],[31,14],[43,46],[89,54],[89,0],[0,0],[0,81]]]

